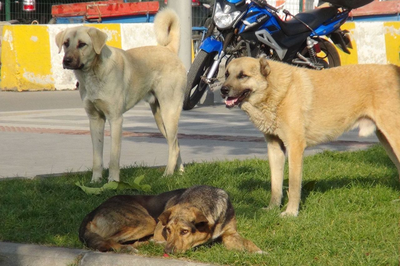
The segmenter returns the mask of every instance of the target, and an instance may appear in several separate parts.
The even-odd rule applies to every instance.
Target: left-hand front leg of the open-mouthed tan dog
[[[271,170],[271,200],[268,210],[282,203],[282,185],[285,167],[285,147],[282,141],[272,135],[264,135],[268,146],[268,161]]]

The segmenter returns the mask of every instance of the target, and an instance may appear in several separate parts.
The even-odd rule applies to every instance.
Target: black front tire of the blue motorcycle
[[[186,91],[183,100],[183,109],[191,110],[200,101],[206,91],[208,84],[201,80],[201,76],[207,75],[212,62],[214,61],[215,53],[207,53],[200,50],[194,58],[192,66],[188,72],[188,81],[186,83]],[[218,69],[214,76],[218,75]]]

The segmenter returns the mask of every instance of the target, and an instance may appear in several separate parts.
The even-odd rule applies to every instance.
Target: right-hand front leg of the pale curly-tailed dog
[[[121,156],[121,137],[122,137],[122,115],[109,119],[111,131],[111,154],[110,164],[108,165],[108,182],[120,181],[120,156]]]

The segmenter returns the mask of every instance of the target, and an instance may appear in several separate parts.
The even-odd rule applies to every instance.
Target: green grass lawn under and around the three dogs
[[[146,175],[152,193],[206,184],[228,191],[236,209],[238,230],[267,251],[266,256],[233,252],[222,244],[200,246],[170,256],[230,265],[398,265],[400,185],[396,168],[380,146],[367,151],[330,152],[306,157],[297,218],[281,210],[264,211],[270,199],[267,161],[193,163],[182,175],[162,178],[162,169],[127,167],[121,179]],[[288,170],[286,166],[285,175]],[[112,195],[86,195],[74,185],[88,184],[91,173],[44,180],[0,183],[0,240],[83,248],[78,240],[82,218]],[[107,176],[107,173],[104,173]],[[285,193],[284,203],[287,202]],[[140,254],[162,256],[162,247],[140,247]]]

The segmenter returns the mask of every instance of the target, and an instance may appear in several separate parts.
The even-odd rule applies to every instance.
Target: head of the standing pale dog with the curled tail
[[[62,66],[66,69],[88,69],[96,54],[106,44],[107,34],[86,26],[67,28],[56,35],[58,52],[64,47]]]

